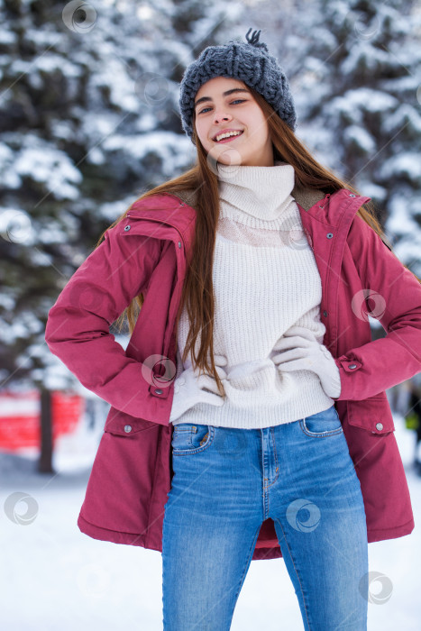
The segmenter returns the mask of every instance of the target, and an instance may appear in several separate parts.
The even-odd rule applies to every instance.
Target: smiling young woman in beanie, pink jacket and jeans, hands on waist
[[[249,33],[182,79],[197,164],[50,309],[51,352],[111,404],[78,526],[162,552],[168,631],[229,629],[252,559],[280,556],[307,630],[362,631],[368,543],[414,527],[385,390],[421,370],[421,288]]]

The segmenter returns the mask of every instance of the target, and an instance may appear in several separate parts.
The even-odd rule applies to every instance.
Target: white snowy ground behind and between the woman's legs
[[[407,471],[416,528],[411,535],[369,545],[370,570],[389,577],[384,604],[369,604],[369,631],[421,627],[421,478],[412,468],[414,435],[396,416],[396,437]],[[85,424],[84,424],[85,425]],[[0,455],[2,503],[0,618],[4,631],[161,631],[161,555],[100,542],[78,530],[79,508],[101,434],[81,425],[63,438],[55,476],[33,473],[33,460]],[[5,499],[23,491],[36,499],[37,517],[17,525]],[[23,502],[21,515],[26,510]],[[376,590],[377,587],[377,590]],[[371,583],[371,593],[380,591]],[[301,615],[282,559],[253,561],[233,616],[232,631],[300,631]]]

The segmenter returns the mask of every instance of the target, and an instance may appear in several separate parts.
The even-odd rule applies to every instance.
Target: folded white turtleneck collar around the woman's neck
[[[292,165],[245,167],[217,162],[219,197],[258,219],[277,219],[290,204],[295,183]]]

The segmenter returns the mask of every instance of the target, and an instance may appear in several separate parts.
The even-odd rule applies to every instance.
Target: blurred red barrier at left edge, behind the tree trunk
[[[51,392],[53,447],[61,434],[75,431],[84,412],[84,398],[66,392]],[[0,451],[16,452],[26,447],[40,448],[40,441],[40,392],[0,392]]]

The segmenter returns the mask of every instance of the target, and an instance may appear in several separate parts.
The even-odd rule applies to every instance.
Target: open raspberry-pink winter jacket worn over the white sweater
[[[368,541],[408,535],[414,518],[385,390],[421,371],[421,286],[356,215],[370,197],[347,189],[324,197],[297,187],[292,196],[322,280],[323,343],[340,370],[334,405],[361,482]],[[173,475],[174,389],[173,381],[160,382],[161,367],[151,371],[151,356],[177,361],[175,319],[196,220],[183,199],[181,193],[160,194],[135,202],[69,279],[45,332],[50,351],[111,405],[80,530],[160,552]],[[142,310],[124,351],[109,326],[141,292]],[[371,341],[367,311],[385,337]],[[252,560],[280,556],[267,519]]]

